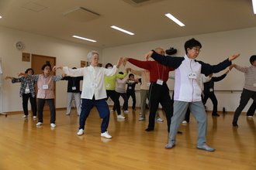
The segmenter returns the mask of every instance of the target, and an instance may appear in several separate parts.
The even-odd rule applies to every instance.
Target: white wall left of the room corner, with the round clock
[[[53,39],[16,29],[0,27],[0,57],[2,58],[3,76],[14,76],[19,72],[24,73],[31,67],[30,62],[22,61],[22,53],[38,54],[56,57],[57,65],[80,67],[81,60],[86,60],[87,54],[92,50],[99,52],[102,59],[102,49],[91,46],[82,46],[78,43]],[[21,52],[16,49],[15,43],[22,41],[26,48]],[[43,66],[43,64],[42,64]],[[57,70],[57,75],[61,74]],[[4,112],[22,110],[22,98],[19,97],[20,83],[11,83],[11,80],[3,80],[3,103]],[[66,107],[67,81],[56,83],[56,107]]]

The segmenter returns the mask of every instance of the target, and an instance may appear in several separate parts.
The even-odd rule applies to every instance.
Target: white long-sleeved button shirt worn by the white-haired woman
[[[95,96],[95,100],[106,98],[106,88],[104,77],[113,76],[118,68],[113,66],[112,69],[106,69],[98,66],[87,66],[79,69],[70,69],[67,66],[63,67],[64,73],[67,76],[84,76],[82,85],[81,98],[90,99]]]

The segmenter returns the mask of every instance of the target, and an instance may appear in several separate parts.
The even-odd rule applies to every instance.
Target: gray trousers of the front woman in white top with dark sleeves
[[[182,124],[183,118],[187,109],[190,109],[192,115],[198,124],[198,136],[197,136],[197,146],[201,147],[206,145],[206,131],[207,131],[207,117],[206,110],[202,104],[202,101],[195,102],[185,102],[175,100],[174,102],[174,113],[171,117],[171,127],[169,134],[169,142],[175,143],[175,137],[178,132],[180,124]]]

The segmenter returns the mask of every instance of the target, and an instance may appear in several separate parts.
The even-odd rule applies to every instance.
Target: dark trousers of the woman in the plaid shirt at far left
[[[33,97],[31,93],[23,93],[22,94],[22,107],[25,115],[29,114],[28,111],[28,102],[30,101],[31,104],[31,110],[33,113],[33,116],[36,116],[36,97]]]

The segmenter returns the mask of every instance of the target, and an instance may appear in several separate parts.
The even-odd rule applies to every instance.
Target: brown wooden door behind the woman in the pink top
[[[42,66],[44,64],[50,63],[51,68],[56,65],[56,57],[53,56],[40,56],[36,54],[32,54],[31,56],[31,68],[34,70],[34,75],[43,73]],[[56,75],[55,72],[50,72],[51,75]],[[56,84],[54,83],[54,87]],[[36,94],[37,94],[37,85],[36,85]],[[55,95],[55,88],[54,88],[54,95]],[[56,101],[55,101],[56,102]],[[37,103],[37,100],[36,100]],[[43,110],[50,110],[47,102],[43,107]]]

